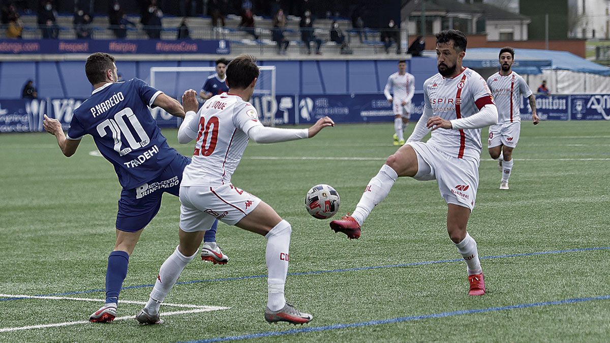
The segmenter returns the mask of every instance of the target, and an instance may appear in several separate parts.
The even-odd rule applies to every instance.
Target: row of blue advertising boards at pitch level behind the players
[[[41,132],[47,114],[68,129],[72,112],[85,99],[42,98],[0,100],[0,133]],[[391,122],[392,106],[382,94],[358,95],[254,95],[250,103],[259,112],[260,120],[270,125],[312,124],[328,115],[336,123]],[[542,120],[610,120],[610,94],[594,95],[536,95],[536,108]],[[411,121],[423,112],[423,94],[412,99]],[[152,117],[160,128],[177,128],[179,118],[156,107]],[[531,119],[527,99],[522,99],[522,120]]]

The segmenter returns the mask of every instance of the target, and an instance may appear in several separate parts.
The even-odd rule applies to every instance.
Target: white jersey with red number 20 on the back
[[[212,96],[199,109],[191,129],[198,132],[192,162],[182,175],[181,186],[220,186],[231,183],[243,151],[248,129],[262,126],[254,106],[237,95]]]

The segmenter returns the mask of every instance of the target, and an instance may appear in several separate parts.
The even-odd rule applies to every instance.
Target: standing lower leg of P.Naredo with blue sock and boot
[[[120,231],[117,229],[117,242],[114,251],[108,256],[106,269],[106,303],[89,316],[90,322],[112,322],[117,316],[118,296],[127,276],[129,255],[134,252],[135,244],[140,239],[143,229],[135,232]]]

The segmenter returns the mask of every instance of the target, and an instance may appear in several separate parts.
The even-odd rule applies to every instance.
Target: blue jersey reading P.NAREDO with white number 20
[[[179,156],[167,145],[148,109],[160,93],[140,79],[97,88],[74,110],[67,138],[92,135],[123,189],[141,186]]]

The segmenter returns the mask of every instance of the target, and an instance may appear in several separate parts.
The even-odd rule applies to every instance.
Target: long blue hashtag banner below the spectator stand
[[[229,54],[227,40],[0,40],[0,54]]]

